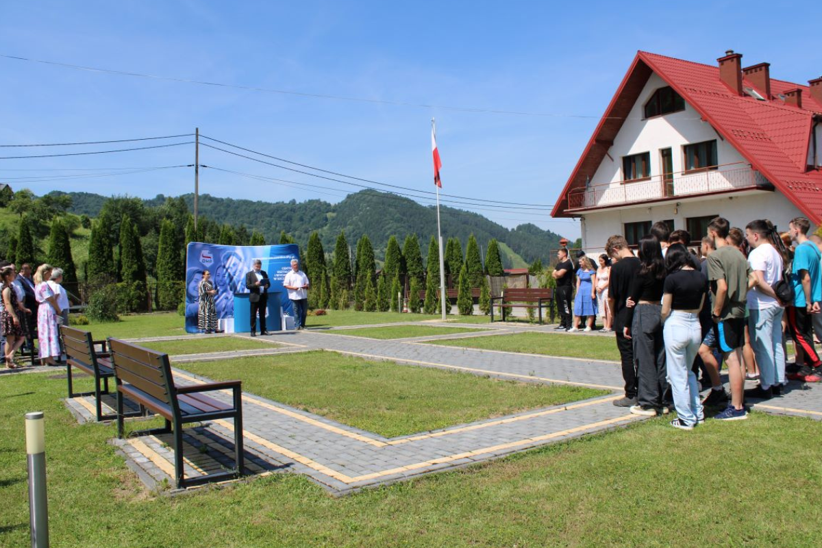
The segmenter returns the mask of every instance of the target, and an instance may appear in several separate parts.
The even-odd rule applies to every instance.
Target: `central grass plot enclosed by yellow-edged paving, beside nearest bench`
[[[201,361],[183,369],[214,380],[240,379],[242,389],[252,394],[386,437],[607,394],[322,351]]]

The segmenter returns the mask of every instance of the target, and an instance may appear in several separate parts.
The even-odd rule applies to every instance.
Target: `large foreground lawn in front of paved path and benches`
[[[341,499],[290,473],[189,496],[145,492],[77,425],[65,380],[0,378],[0,546],[29,546],[23,415],[46,415],[51,546],[819,546],[822,424],[664,419]],[[88,379],[78,389],[90,387]],[[706,458],[706,456],[708,458]],[[728,457],[731,458],[728,458]],[[688,502],[684,502],[688,501]]]

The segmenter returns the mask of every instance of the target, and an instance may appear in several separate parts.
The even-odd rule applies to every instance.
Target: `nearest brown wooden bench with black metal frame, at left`
[[[135,435],[174,435],[174,481],[179,489],[185,486],[221,480],[242,475],[242,387],[239,380],[208,383],[202,385],[174,385],[169,355],[153,352],[109,338],[109,350],[117,382],[117,435],[123,437],[124,396],[140,403],[165,419],[164,428],[135,432]],[[233,403],[223,403],[201,394],[214,390],[230,389]],[[235,469],[216,472],[207,476],[186,479],[182,464],[182,425],[189,422],[234,420],[234,461]]]

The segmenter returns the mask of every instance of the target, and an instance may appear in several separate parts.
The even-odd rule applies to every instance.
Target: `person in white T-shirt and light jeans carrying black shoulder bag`
[[[774,225],[768,220],[751,221],[745,228],[752,250],[748,256],[753,271],[748,282],[748,331],[760,367],[760,385],[745,391],[747,398],[769,399],[782,394],[785,379],[785,353],[782,346],[783,306],[774,285],[783,277],[783,258],[771,244]]]

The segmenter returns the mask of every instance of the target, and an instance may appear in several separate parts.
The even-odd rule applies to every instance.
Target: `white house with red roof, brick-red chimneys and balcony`
[[[768,63],[716,65],[638,52],[552,211],[580,217],[584,246],[665,220],[694,240],[722,215],[778,228],[822,222],[822,78],[770,78]],[[586,233],[587,236],[586,237]]]

